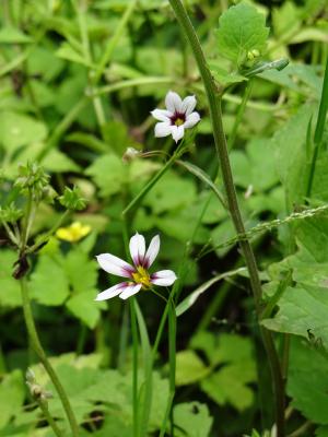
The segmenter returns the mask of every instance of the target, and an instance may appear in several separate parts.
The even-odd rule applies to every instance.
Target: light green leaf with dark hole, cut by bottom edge
[[[213,418],[206,404],[186,402],[174,408],[174,423],[176,437],[208,437]]]

